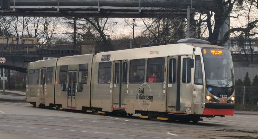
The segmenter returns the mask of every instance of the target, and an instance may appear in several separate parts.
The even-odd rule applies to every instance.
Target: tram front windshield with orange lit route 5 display
[[[202,49],[206,85],[232,87],[234,84],[232,58],[227,49]]]

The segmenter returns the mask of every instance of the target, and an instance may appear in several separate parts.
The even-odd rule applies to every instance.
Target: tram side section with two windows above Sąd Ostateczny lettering
[[[166,71],[164,57],[130,61],[126,97],[127,113],[134,111],[166,111]],[[136,74],[139,79],[135,79]],[[155,78],[154,78],[155,77]],[[133,107],[132,107],[133,103]],[[133,109],[133,110],[130,110]]]

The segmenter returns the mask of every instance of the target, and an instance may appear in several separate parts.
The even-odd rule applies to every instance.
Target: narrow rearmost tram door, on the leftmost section
[[[45,102],[45,91],[46,91],[46,68],[40,68],[40,92],[39,102]]]

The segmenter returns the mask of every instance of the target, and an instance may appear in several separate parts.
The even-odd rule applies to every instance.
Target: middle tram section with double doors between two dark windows
[[[90,107],[93,54],[60,58],[57,62],[56,104],[65,109]]]

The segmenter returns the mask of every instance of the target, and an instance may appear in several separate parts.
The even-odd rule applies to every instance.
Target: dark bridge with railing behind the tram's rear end
[[[64,57],[81,54],[81,45],[48,44],[0,44],[0,56],[6,58],[0,68],[26,72],[28,62],[42,60],[44,57]]]

